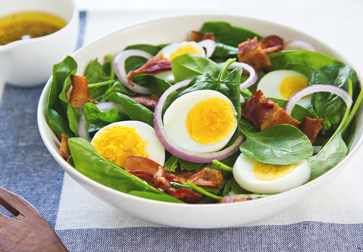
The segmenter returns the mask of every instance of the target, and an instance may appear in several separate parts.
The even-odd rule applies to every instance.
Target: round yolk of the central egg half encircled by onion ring
[[[196,104],[188,113],[186,127],[189,135],[202,144],[216,144],[232,132],[235,114],[229,102],[211,98]]]

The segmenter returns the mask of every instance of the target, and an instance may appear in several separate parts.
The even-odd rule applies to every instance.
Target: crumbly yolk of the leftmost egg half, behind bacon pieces
[[[104,129],[93,140],[92,145],[102,157],[121,167],[125,167],[128,156],[149,156],[149,153],[145,153],[147,141],[134,128],[120,125]]]

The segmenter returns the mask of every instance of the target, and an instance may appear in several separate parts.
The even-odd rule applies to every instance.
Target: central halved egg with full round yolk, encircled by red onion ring
[[[163,124],[168,137],[189,151],[222,149],[237,128],[232,102],[215,90],[197,90],[178,97],[166,109]]]

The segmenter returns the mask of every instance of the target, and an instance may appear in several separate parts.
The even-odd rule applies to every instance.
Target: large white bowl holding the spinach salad
[[[78,75],[83,74],[87,64],[94,58],[98,57],[102,59],[108,53],[115,55],[127,45],[184,41],[188,39],[191,30],[200,29],[206,21],[226,21],[234,26],[250,29],[263,36],[277,34],[284,38],[285,41],[304,39],[310,42],[318,51],[337,58],[351,66],[349,60],[327,45],[294,29],[251,18],[198,15],[155,20],[118,30],[101,37],[91,44],[82,47],[72,55],[78,62]],[[162,32],[157,32],[160,30],[159,27],[163,27]],[[361,80],[359,74],[358,77]],[[59,141],[46,123],[46,104],[50,83],[51,79],[46,84],[39,100],[38,125],[44,144],[55,160],[78,183],[102,201],[139,218],[165,225],[192,228],[230,227],[276,215],[291,208],[308,196],[313,195],[328,181],[332,180],[356,152],[363,138],[362,113],[360,110],[357,116],[358,126],[355,139],[348,155],[324,175],[278,195],[239,203],[210,205],[188,205],[153,201],[118,192],[97,183],[67,164],[61,155],[59,155]]]

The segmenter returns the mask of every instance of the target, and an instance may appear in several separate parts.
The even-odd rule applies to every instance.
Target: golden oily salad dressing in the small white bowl
[[[67,25],[58,16],[45,12],[18,12],[0,18],[0,45],[54,33]]]

